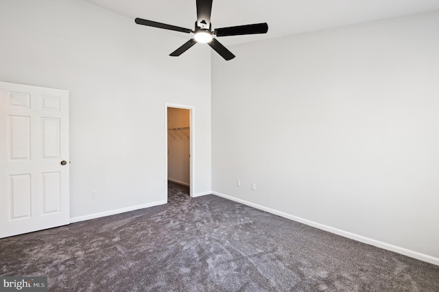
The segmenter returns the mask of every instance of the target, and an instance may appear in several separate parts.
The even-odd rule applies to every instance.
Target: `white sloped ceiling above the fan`
[[[139,17],[193,29],[196,21],[195,0],[86,1],[128,16],[133,24]],[[214,0],[211,22],[213,29],[268,23],[268,34],[219,38],[223,45],[235,45],[437,10],[439,0]],[[182,39],[190,38],[187,34],[171,33]]]

